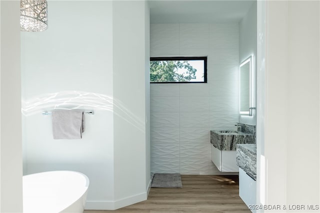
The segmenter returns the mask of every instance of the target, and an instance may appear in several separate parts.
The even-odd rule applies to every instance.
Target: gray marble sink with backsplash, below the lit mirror
[[[218,150],[235,151],[236,144],[255,144],[255,135],[233,130],[211,130],[210,142]]]

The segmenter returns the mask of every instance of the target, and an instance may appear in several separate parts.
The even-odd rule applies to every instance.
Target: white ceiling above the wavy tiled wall
[[[240,21],[253,0],[149,0],[150,23]]]

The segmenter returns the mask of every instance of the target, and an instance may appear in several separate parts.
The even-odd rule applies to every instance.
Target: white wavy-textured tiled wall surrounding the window
[[[151,172],[221,174],[209,130],[238,121],[238,23],[151,24],[151,56],[208,56],[207,83],[151,84]]]

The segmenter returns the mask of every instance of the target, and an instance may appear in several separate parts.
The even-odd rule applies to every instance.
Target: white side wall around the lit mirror
[[[256,107],[256,1],[252,1],[246,15],[239,22],[239,64],[248,56],[253,55],[254,69],[254,107]],[[258,109],[257,109],[258,110]],[[256,125],[256,110],[253,110],[253,116],[241,116],[241,122],[245,124]]]

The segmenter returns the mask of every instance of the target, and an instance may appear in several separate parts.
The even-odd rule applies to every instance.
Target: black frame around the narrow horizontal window
[[[150,61],[177,61],[177,60],[203,60],[203,81],[167,81],[150,82],[151,84],[188,84],[188,83],[207,83],[207,56],[174,56],[174,57],[150,57]]]

